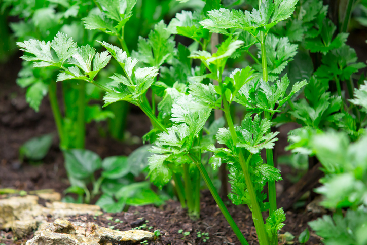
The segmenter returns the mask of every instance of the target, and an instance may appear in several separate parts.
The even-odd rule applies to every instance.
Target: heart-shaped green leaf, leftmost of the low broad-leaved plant
[[[85,149],[64,150],[65,168],[69,176],[77,179],[89,178],[101,168],[101,158]]]

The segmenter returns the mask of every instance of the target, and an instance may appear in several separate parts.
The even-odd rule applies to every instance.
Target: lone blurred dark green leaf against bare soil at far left
[[[40,137],[29,139],[19,148],[19,157],[21,160],[27,158],[32,161],[42,160],[52,145],[52,134],[45,134]]]

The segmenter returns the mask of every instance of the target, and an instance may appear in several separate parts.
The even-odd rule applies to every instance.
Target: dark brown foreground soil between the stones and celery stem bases
[[[248,243],[250,245],[259,244],[248,207],[243,205],[229,205],[228,210]],[[94,217],[91,215],[75,216],[68,218],[68,220],[84,223],[93,222],[100,226],[120,231],[131,230],[133,228],[151,232],[160,230],[161,238],[156,242],[164,245],[240,244],[224,216],[221,214],[221,211],[219,211],[209,191],[202,192],[200,219],[192,221],[186,214],[186,211],[181,208],[178,202],[168,201],[165,205],[160,207],[152,205],[130,207],[128,212],[114,214],[105,213],[101,216]],[[294,240],[297,241],[298,235],[307,227],[306,223],[317,217],[318,215],[304,211],[298,213],[288,211],[287,220],[285,222],[286,226],[281,233],[283,234],[288,231],[296,236]],[[52,222],[53,220],[52,217],[49,217],[48,221]],[[184,236],[183,232],[179,233],[181,229],[183,232],[190,232],[190,234]],[[198,232],[208,233],[209,239],[204,242],[202,237],[198,237]],[[32,237],[33,234],[23,240],[13,241],[11,231],[0,231],[0,243],[5,244],[22,244]],[[319,237],[311,232],[311,237],[307,244],[313,245],[319,243]],[[279,244],[285,244],[285,242]],[[295,242],[293,244],[299,243]]]

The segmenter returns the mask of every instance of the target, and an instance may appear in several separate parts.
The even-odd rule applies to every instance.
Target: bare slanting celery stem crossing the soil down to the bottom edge
[[[204,178],[204,181],[205,181],[211,195],[214,197],[214,200],[215,200],[216,204],[218,204],[218,207],[219,207],[219,209],[221,209],[222,214],[226,218],[226,220],[229,223],[229,225],[231,226],[232,230],[235,232],[238,240],[241,242],[242,245],[248,245],[248,242],[246,241],[246,239],[243,236],[242,232],[240,231],[237,224],[233,220],[232,216],[228,212],[228,209],[224,205],[221,197],[219,197],[219,194],[216,191],[213,183],[211,182],[211,180],[208,176],[208,173],[207,173],[205,167],[203,166],[203,164],[199,161],[199,159],[195,155],[189,154],[188,156],[191,158],[191,160],[193,160],[193,162],[195,162],[196,166],[198,167],[198,169],[201,173],[201,176]]]

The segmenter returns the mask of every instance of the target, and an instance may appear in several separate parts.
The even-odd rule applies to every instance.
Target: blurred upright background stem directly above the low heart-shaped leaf
[[[78,116],[77,116],[77,139],[76,147],[84,148],[85,145],[85,81],[80,81],[80,86],[78,86]]]

